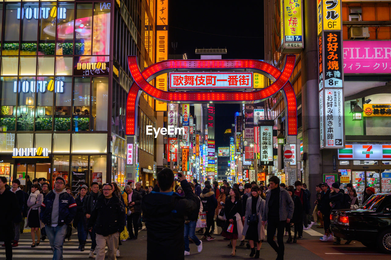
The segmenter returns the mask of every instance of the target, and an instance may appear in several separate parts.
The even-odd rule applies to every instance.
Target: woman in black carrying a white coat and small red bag
[[[240,199],[239,191],[236,188],[230,189],[230,195],[225,199],[225,203],[220,203],[224,206],[226,221],[222,230],[222,236],[231,239],[232,253],[236,254],[236,240],[238,239],[237,219],[235,214],[239,213],[242,216],[242,200]]]

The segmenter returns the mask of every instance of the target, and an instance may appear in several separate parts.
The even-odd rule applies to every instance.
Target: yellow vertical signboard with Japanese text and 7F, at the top
[[[282,53],[303,49],[303,12],[301,0],[282,0]]]

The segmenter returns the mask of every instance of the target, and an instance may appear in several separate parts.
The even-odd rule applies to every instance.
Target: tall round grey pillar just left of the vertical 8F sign
[[[322,151],[319,140],[319,94],[318,94],[318,49],[317,49],[317,1],[304,5],[304,50],[301,53],[301,101],[303,117],[304,181],[312,194],[322,182]],[[315,196],[311,196],[313,201]],[[313,206],[313,203],[311,203]]]

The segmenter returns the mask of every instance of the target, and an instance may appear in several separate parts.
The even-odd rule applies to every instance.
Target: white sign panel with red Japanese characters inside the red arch
[[[170,88],[252,88],[253,73],[170,73]]]

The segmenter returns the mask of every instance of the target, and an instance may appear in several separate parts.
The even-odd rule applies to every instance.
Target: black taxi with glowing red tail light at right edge
[[[332,210],[330,221],[336,237],[391,254],[391,193],[374,194],[358,209]]]

